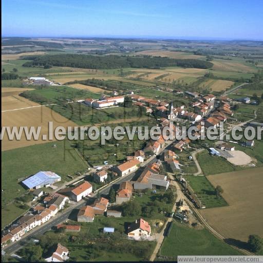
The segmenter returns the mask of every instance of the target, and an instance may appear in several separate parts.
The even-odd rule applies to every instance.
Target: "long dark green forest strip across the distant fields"
[[[59,67],[77,67],[91,69],[115,69],[115,68],[161,68],[179,66],[184,68],[202,68],[213,67],[213,63],[196,59],[171,59],[167,57],[130,57],[119,55],[85,55],[85,54],[55,54],[55,55],[32,55],[27,56],[24,67],[34,66],[59,66]]]

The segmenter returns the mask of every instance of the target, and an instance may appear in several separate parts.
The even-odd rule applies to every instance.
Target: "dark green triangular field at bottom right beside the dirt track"
[[[176,259],[178,255],[241,255],[208,230],[190,229],[174,222],[171,233],[165,237],[161,255]]]

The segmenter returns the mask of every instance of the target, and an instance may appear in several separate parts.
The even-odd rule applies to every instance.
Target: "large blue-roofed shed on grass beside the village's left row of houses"
[[[43,186],[59,182],[61,177],[52,172],[38,172],[22,181],[29,189],[39,189]]]

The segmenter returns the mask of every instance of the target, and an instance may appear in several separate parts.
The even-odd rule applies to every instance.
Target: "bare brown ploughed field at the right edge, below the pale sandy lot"
[[[214,186],[222,187],[222,196],[229,206],[200,212],[225,238],[247,241],[250,234],[263,237],[262,174],[260,167],[208,176]]]

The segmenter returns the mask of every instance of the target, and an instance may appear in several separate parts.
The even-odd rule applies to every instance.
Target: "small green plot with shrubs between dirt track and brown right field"
[[[228,203],[222,198],[215,195],[214,186],[206,179],[205,176],[185,176],[187,182],[200,198],[201,202],[206,208],[215,208],[219,206],[228,205]]]

